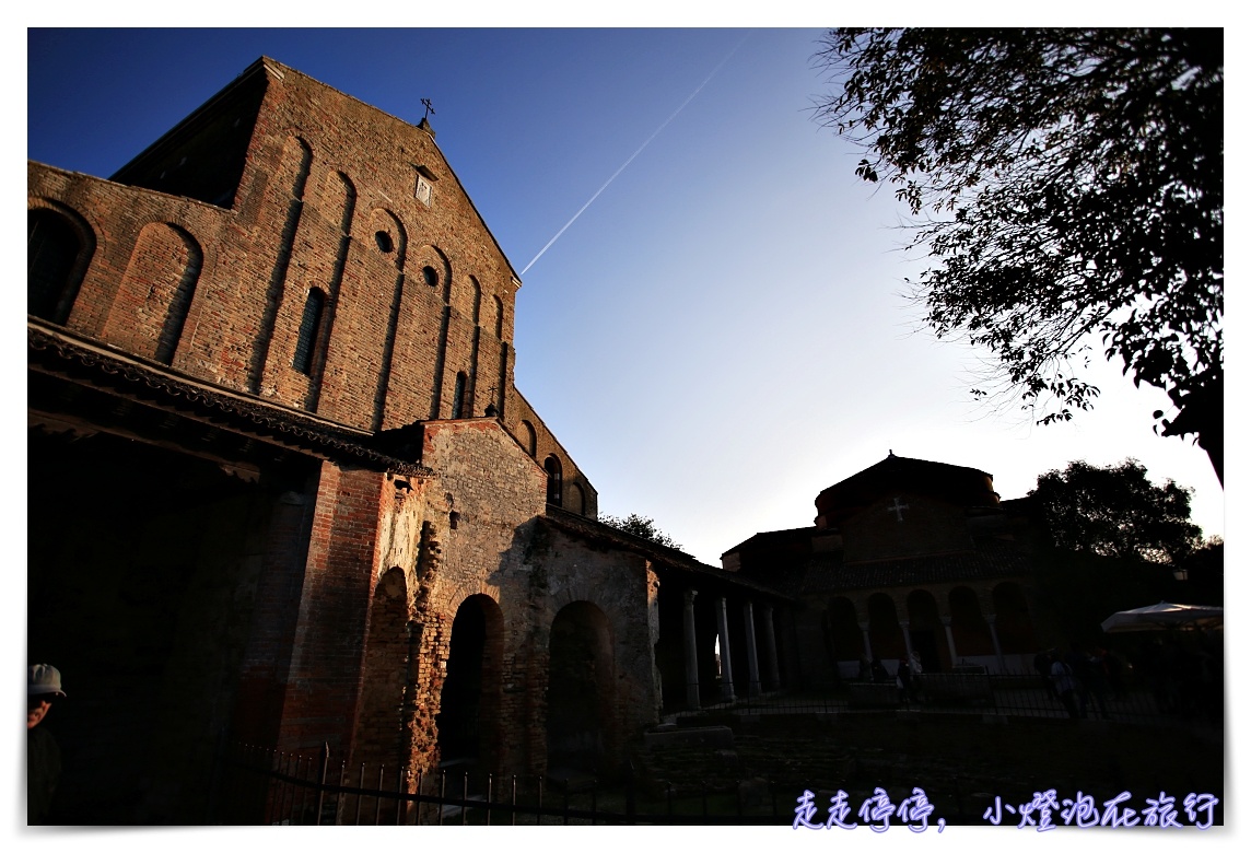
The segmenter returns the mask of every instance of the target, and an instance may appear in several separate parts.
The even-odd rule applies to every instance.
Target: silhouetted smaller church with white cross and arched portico
[[[801,603],[798,680],[856,678],[874,659],[893,673],[913,653],[926,672],[1032,668],[1030,522],[990,474],[892,452],[814,503],[812,527],[758,533],[722,557]]]

